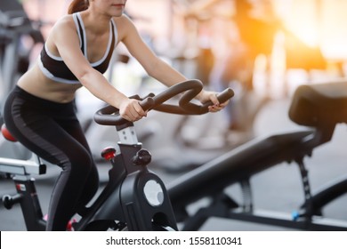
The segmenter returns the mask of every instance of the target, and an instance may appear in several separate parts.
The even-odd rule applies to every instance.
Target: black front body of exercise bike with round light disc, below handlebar
[[[141,149],[133,124],[118,125],[117,133],[120,153],[116,156],[116,150],[109,149],[109,183],[74,229],[98,230],[119,221],[118,228],[126,224],[129,230],[152,230],[154,225],[177,230],[165,184],[149,172],[150,154]]]

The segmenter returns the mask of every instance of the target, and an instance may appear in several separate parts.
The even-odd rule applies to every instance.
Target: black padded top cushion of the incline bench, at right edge
[[[347,123],[347,82],[299,86],[289,117],[296,124],[313,127]]]

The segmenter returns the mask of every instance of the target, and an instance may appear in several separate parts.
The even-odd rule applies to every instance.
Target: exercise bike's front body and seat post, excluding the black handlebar
[[[165,184],[157,174],[149,172],[150,154],[141,149],[133,124],[117,126],[120,153],[109,158],[112,169],[109,183],[97,200],[85,209],[82,218],[73,224],[75,230],[114,229],[126,224],[128,230],[152,230],[153,226],[177,230],[170,198]],[[146,154],[147,158],[141,154]],[[34,158],[33,158],[34,159]],[[6,208],[20,203],[28,230],[44,230],[45,221],[36,194],[33,174],[44,174],[46,166],[36,160],[0,157],[0,172],[14,175],[17,190],[14,196],[4,196]],[[157,195],[157,196],[156,196]],[[114,221],[118,221],[114,223]],[[119,226],[119,228],[117,228]]]

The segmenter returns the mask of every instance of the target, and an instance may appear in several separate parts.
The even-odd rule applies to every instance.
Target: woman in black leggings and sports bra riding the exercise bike
[[[36,64],[21,76],[6,100],[4,121],[23,145],[61,175],[52,191],[47,230],[65,230],[69,219],[98,189],[99,177],[85,135],[75,114],[75,92],[85,86],[96,97],[119,108],[129,121],[146,116],[138,100],[128,99],[102,75],[115,46],[122,42],[149,76],[167,86],[186,80],[159,60],[143,43],[133,22],[124,15],[126,0],[75,0],[69,14],[57,21]],[[211,112],[222,109],[214,92]]]

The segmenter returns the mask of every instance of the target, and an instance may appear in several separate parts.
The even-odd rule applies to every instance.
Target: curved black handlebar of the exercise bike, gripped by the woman
[[[174,84],[165,89],[165,91],[154,95],[150,93],[149,96],[143,100],[139,96],[133,96],[133,99],[141,100],[140,105],[144,111],[156,109],[173,114],[181,115],[201,115],[208,112],[208,107],[213,105],[211,101],[204,104],[195,104],[191,102],[199,92],[203,89],[203,84],[198,80],[187,80],[179,84]],[[182,93],[178,105],[165,104],[166,100]],[[227,88],[223,92],[217,94],[217,99],[220,103],[230,100],[234,96],[234,92]],[[113,106],[101,108],[94,115],[94,120],[98,124],[103,125],[121,125],[129,121],[119,115],[119,110]]]

